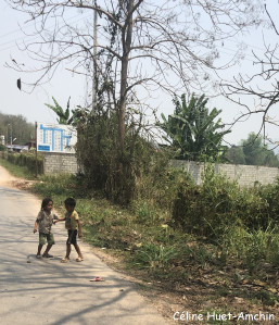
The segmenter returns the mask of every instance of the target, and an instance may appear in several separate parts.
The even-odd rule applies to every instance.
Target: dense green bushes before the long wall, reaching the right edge
[[[173,222],[187,233],[221,240],[234,226],[266,230],[278,223],[278,185],[240,189],[237,182],[205,168],[201,186],[181,182]]]

